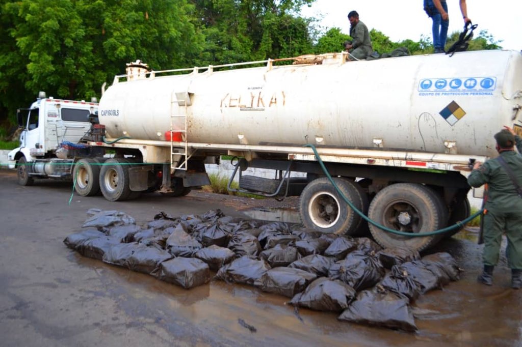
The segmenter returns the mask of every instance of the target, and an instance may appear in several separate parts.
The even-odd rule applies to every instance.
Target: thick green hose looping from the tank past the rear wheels
[[[348,206],[350,206],[350,208],[352,210],[354,210],[355,213],[357,213],[359,216],[361,216],[361,218],[363,218],[364,220],[366,220],[370,224],[374,225],[375,227],[377,227],[377,228],[379,228],[381,230],[384,230],[386,232],[393,233],[393,234],[400,235],[400,236],[408,236],[408,237],[426,237],[426,236],[439,235],[439,234],[443,234],[443,233],[452,231],[452,230],[457,229],[457,228],[463,228],[469,221],[471,221],[472,219],[476,218],[477,216],[480,216],[482,214],[482,212],[483,212],[483,209],[481,209],[477,213],[474,213],[471,216],[469,216],[468,218],[466,218],[464,220],[461,220],[461,221],[457,221],[456,224],[454,224],[452,226],[449,226],[449,227],[446,227],[446,228],[443,228],[443,229],[439,229],[439,230],[435,230],[435,231],[430,231],[430,232],[409,233],[409,232],[402,232],[402,231],[398,231],[398,230],[387,228],[387,227],[385,227],[385,226],[383,226],[381,224],[378,224],[376,221],[371,220],[370,218],[366,217],[359,209],[357,209],[357,207],[355,207],[351,203],[350,200],[348,200],[348,198],[345,196],[345,194],[343,194],[339,190],[339,188],[337,187],[337,184],[335,184],[334,180],[331,178],[330,173],[326,169],[326,166],[324,165],[323,160],[321,159],[321,156],[319,156],[319,153],[317,153],[317,149],[315,148],[315,146],[313,144],[305,144],[304,147],[312,148],[312,151],[314,151],[315,158],[317,159],[317,162],[321,166],[321,169],[325,173],[326,177],[328,177],[328,180],[330,181],[330,183],[334,186],[336,192],[341,196],[342,200],[344,200],[348,204]]]

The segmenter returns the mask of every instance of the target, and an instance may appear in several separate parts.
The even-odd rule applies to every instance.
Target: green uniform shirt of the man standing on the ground
[[[522,139],[516,136],[515,141],[517,149],[522,152]],[[517,183],[522,187],[522,155],[515,151],[502,152],[500,155],[513,170]],[[471,187],[480,187],[484,183],[488,183],[488,201],[485,208],[504,212],[522,210],[522,199],[498,160],[489,159],[480,168],[471,171],[468,177],[468,184]]]

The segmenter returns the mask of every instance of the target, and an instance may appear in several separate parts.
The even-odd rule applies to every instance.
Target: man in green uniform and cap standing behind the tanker
[[[519,185],[522,185],[522,155],[514,151],[516,144],[522,152],[522,139],[506,127],[495,134],[496,150],[511,168]],[[507,237],[507,265],[511,268],[511,286],[522,287],[522,196],[520,196],[506,169],[497,158],[489,159],[484,164],[477,162],[468,177],[471,187],[480,187],[488,183],[488,201],[485,204],[483,235],[484,270],[478,281],[491,286],[493,268],[499,261],[502,234]]]

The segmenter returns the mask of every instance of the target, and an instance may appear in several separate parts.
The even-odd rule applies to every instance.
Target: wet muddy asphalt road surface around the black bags
[[[0,170],[2,346],[522,345],[522,291],[509,288],[505,257],[495,269],[494,286],[476,283],[481,267],[476,231],[461,232],[430,251],[449,252],[464,272],[458,282],[417,300],[419,331],[412,334],[307,309],[300,309],[301,321],[282,296],[218,280],[185,290],[82,257],[63,244],[93,207],[121,210],[145,223],[160,211],[181,216],[220,208],[245,217],[252,215],[249,199],[192,192],[111,203],[73,195],[69,205],[70,183],[37,182],[20,187],[15,171]]]

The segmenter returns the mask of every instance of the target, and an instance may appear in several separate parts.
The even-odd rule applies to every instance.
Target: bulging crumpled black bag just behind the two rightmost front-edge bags
[[[347,283],[356,291],[375,286],[384,276],[385,270],[376,256],[363,251],[353,251],[345,259],[330,266],[328,277]]]

